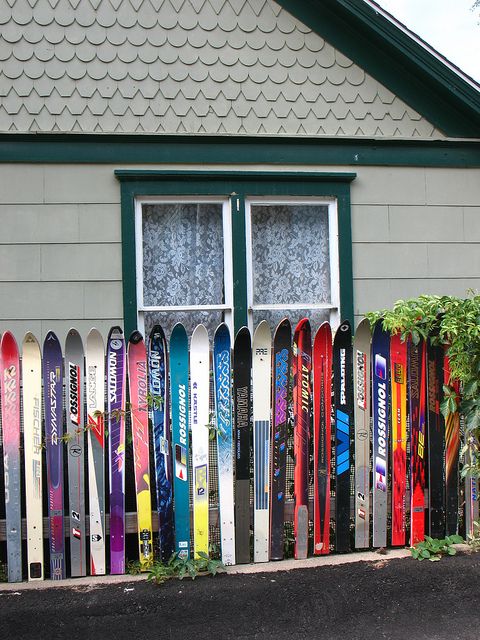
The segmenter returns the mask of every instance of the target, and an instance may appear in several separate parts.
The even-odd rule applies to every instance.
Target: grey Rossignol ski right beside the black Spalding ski
[[[370,350],[372,332],[364,318],[353,340],[355,441],[355,548],[370,546]]]

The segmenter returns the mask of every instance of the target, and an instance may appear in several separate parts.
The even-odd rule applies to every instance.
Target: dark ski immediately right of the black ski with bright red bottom
[[[440,405],[443,400],[443,347],[427,341],[427,455],[428,455],[428,534],[445,536],[445,422]]]

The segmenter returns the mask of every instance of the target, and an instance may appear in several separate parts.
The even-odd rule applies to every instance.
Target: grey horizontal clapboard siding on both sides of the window
[[[77,326],[85,338],[95,324],[106,334],[111,324],[121,323],[116,168],[0,166],[1,329],[13,329],[17,338],[33,329],[40,331],[40,338],[53,327],[65,335],[70,326]],[[480,170],[355,171],[351,201],[357,316],[399,298],[421,293],[464,296],[467,289],[480,288]],[[55,182],[61,193],[55,191]],[[57,267],[55,256],[60,255]]]

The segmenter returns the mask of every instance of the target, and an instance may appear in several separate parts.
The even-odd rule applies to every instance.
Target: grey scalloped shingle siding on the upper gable
[[[2,132],[443,137],[273,0],[18,1],[0,32]]]

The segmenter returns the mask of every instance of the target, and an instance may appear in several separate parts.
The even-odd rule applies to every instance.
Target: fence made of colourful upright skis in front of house
[[[293,335],[292,335],[293,333]],[[213,348],[211,348],[211,345]],[[235,338],[0,344],[0,563],[12,582],[122,574],[176,553],[225,565],[470,533],[461,419],[443,346],[367,320]],[[467,451],[468,455],[468,451]]]

